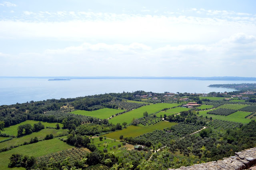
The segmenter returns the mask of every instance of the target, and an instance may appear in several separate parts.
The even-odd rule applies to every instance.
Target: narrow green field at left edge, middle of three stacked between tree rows
[[[67,133],[66,129],[42,129],[39,132],[33,132],[32,134],[28,134],[19,138],[13,138],[12,140],[8,140],[6,142],[0,143],[0,148],[16,146],[18,144],[23,144],[24,142],[29,142],[31,138],[38,137],[38,140],[43,139],[47,134],[53,134],[53,136],[57,136],[59,134]]]

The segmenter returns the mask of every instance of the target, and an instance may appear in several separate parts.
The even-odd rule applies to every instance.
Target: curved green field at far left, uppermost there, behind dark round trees
[[[18,126],[22,125],[22,124],[31,124],[32,126],[34,126],[35,123],[38,123],[40,121],[35,121],[35,120],[26,120],[25,122],[10,126],[8,128],[4,128],[4,131],[2,133],[5,134],[9,134],[9,135],[14,135],[17,136],[17,128]],[[46,128],[46,126],[48,127],[56,127],[57,123],[48,123],[48,122],[41,122],[44,125],[44,128]],[[61,123],[59,123],[60,128],[63,127],[63,125]]]

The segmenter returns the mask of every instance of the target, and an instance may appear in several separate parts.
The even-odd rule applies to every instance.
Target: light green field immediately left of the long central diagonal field
[[[125,110],[122,109],[110,109],[110,108],[103,108],[99,110],[93,110],[93,111],[86,111],[86,110],[75,110],[71,113],[73,114],[81,114],[85,116],[92,116],[100,119],[108,119],[112,115],[115,115],[116,113],[124,112]]]

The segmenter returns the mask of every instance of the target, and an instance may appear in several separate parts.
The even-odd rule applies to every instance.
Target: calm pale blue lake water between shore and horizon
[[[0,105],[75,98],[110,92],[230,92],[233,89],[210,88],[210,84],[256,83],[255,81],[156,80],[156,79],[72,79],[48,81],[48,78],[0,78]]]

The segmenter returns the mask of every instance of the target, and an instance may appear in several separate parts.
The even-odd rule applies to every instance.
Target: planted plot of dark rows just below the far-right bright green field
[[[236,128],[240,128],[243,124],[242,123],[237,123],[237,122],[230,122],[227,120],[213,120],[211,122],[208,123],[208,126],[213,127],[214,129],[236,129]]]

